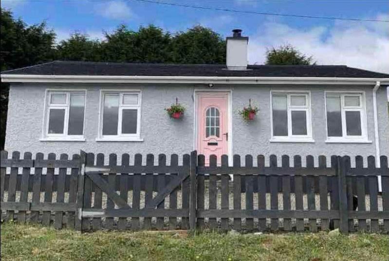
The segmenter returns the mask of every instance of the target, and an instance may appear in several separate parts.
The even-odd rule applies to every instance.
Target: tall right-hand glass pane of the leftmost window
[[[82,135],[84,130],[84,94],[70,95],[68,135]]]

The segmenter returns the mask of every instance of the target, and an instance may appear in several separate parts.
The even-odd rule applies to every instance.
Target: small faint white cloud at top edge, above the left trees
[[[132,11],[124,1],[97,3],[94,7],[94,11],[98,15],[108,19],[126,20],[132,17]]]

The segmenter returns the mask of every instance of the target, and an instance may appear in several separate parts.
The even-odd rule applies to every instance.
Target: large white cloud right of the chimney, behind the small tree
[[[388,19],[380,15],[378,19]],[[249,62],[263,64],[266,48],[291,44],[312,55],[318,64],[344,64],[389,73],[389,27],[386,23],[337,22],[332,27],[297,29],[282,23],[265,23],[250,37]]]

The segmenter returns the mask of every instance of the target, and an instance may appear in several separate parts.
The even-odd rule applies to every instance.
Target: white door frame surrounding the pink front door
[[[198,141],[198,115],[197,115],[197,103],[198,103],[198,95],[199,94],[204,94],[204,93],[226,93],[227,94],[227,122],[228,122],[228,141],[227,141],[227,146],[228,146],[228,165],[232,166],[232,88],[230,89],[194,89],[194,94],[193,94],[193,149],[197,150],[197,141]],[[200,151],[199,151],[200,152]]]

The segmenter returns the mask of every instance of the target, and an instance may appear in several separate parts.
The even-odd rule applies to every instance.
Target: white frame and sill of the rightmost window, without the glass
[[[327,96],[340,97],[340,110],[342,117],[342,137],[329,137],[327,126]],[[358,96],[359,106],[345,106],[345,96]],[[326,143],[371,143],[368,139],[368,124],[366,112],[366,95],[363,91],[326,91],[324,92],[324,112],[326,115]],[[346,112],[360,112],[361,135],[347,135]]]

